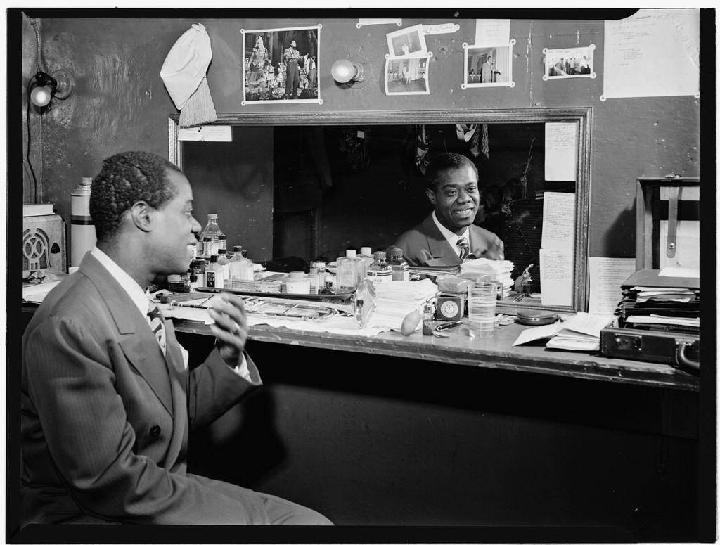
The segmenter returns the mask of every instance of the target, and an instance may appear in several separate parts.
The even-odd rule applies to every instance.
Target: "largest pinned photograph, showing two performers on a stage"
[[[240,29],[243,106],[272,102],[323,104],[318,87],[320,29]]]

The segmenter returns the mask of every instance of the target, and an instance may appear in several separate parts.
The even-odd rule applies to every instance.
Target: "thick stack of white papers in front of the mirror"
[[[410,312],[422,310],[428,299],[436,297],[438,287],[431,279],[419,281],[378,282],[375,287],[375,310],[368,320],[369,328],[400,331],[402,320]],[[418,323],[418,328],[422,323]]]

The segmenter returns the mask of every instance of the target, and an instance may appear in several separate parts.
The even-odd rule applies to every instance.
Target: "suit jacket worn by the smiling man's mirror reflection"
[[[503,258],[501,257],[504,249],[503,241],[495,233],[477,225],[470,225],[469,238],[470,251],[475,257]],[[387,249],[388,258],[393,247],[402,249],[402,257],[410,266],[450,266],[462,263],[435,225],[432,212],[422,223],[405,231],[395,240],[395,243]]]

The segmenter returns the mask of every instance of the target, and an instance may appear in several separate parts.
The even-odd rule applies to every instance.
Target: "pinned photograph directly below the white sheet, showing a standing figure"
[[[474,87],[514,87],[513,45],[468,45],[464,43],[465,73],[462,89]]]

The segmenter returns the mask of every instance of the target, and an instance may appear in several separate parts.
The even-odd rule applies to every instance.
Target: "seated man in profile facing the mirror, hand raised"
[[[189,181],[151,153],[107,158],[93,181],[97,246],[22,339],[22,523],[330,524],[279,497],[186,472],[188,435],[261,386],[238,297],[210,310],[216,346],[188,368],[148,298],[187,271],[201,225]]]

